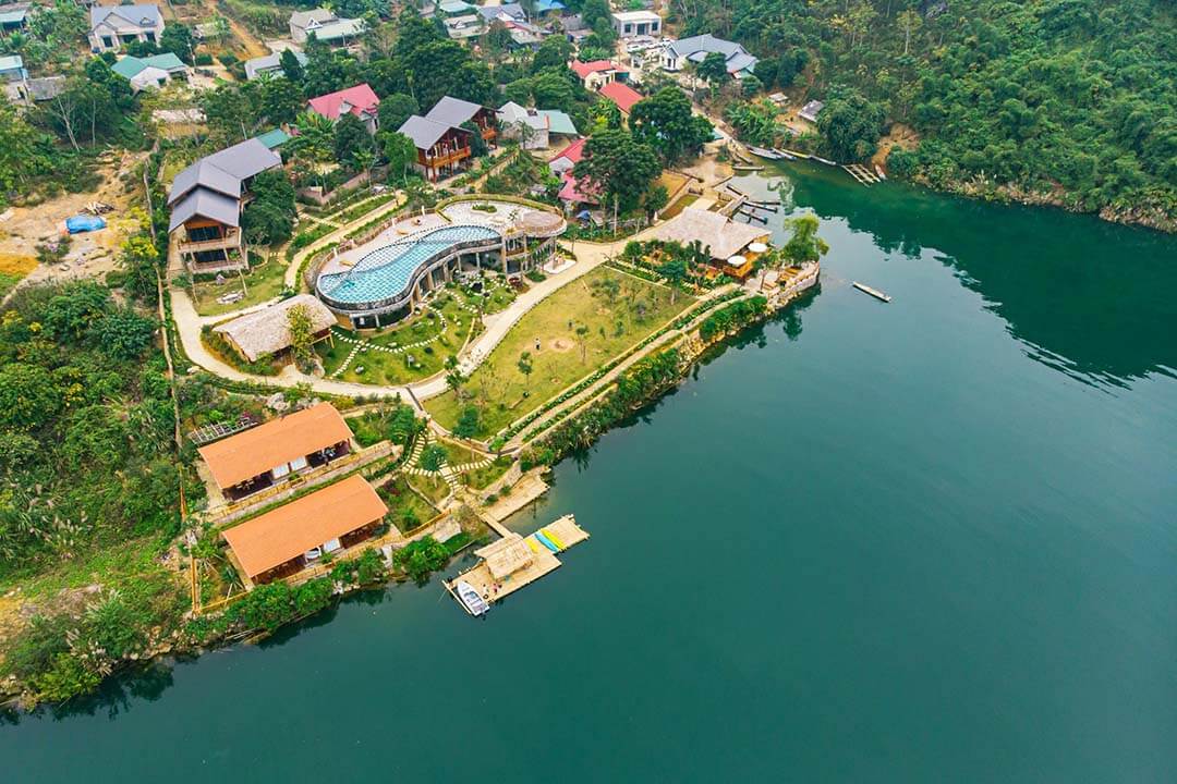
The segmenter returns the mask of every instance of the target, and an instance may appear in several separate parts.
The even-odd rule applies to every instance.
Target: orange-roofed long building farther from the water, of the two
[[[351,451],[352,431],[331,403],[318,403],[198,449],[232,501],[326,465]]]

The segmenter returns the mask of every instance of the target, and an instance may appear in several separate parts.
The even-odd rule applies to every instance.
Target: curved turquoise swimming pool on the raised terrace
[[[418,273],[433,261],[463,246],[500,239],[498,232],[485,226],[446,226],[424,232],[377,248],[348,270],[320,275],[315,288],[328,303],[375,306],[407,294]]]

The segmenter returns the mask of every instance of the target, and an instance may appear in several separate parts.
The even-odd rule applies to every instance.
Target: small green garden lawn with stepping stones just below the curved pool
[[[433,301],[433,306],[439,308],[445,316],[446,326],[444,329],[441,319],[431,310],[375,334],[361,335],[339,329],[337,335],[343,333],[351,339],[365,340],[372,346],[404,348],[404,350],[393,354],[372,347],[364,348],[352,359],[347,369],[337,377],[367,384],[403,384],[440,373],[445,369],[446,359],[461,350],[477,317],[476,314],[461,307],[464,302],[465,297],[457,292],[445,292]],[[425,346],[407,348],[423,341],[428,342]],[[328,376],[335,373],[354,347],[354,343],[341,341],[338,337],[334,346],[328,342],[315,346]],[[410,357],[412,357],[412,364],[410,364]]]

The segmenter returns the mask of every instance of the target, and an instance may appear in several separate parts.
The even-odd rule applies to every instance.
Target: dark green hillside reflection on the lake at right
[[[885,254],[939,260],[985,299],[1036,361],[1097,383],[1175,375],[1177,237],[896,183],[863,188],[816,165],[777,170],[784,176],[745,176],[736,185],[842,217]]]

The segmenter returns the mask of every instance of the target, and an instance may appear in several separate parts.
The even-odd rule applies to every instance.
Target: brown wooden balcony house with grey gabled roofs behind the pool
[[[472,123],[476,130],[464,128]],[[477,132],[488,146],[498,139],[496,110],[446,95],[428,114],[408,118],[399,133],[417,146],[417,168],[431,181],[455,174],[468,166],[471,142]]]

